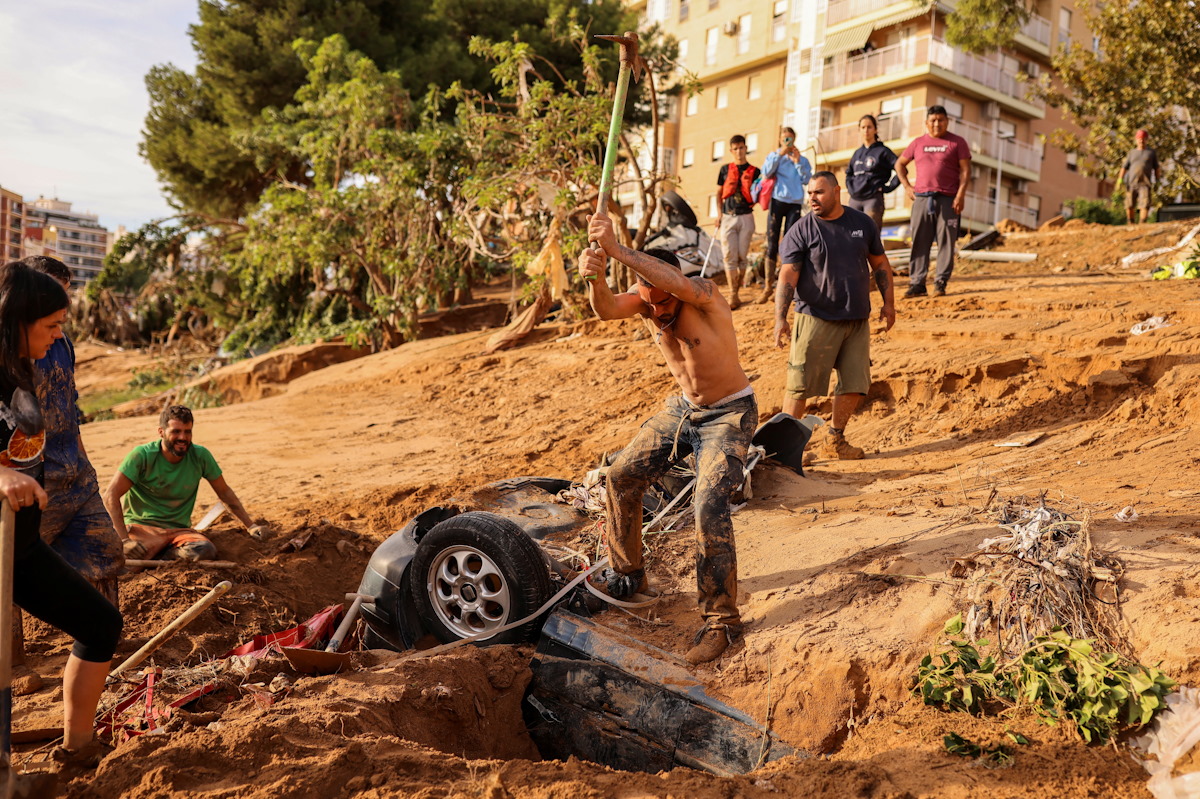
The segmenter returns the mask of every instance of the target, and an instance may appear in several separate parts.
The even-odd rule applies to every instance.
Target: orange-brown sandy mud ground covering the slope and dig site
[[[1146,774],[1121,747],[1088,747],[1027,717],[938,713],[908,689],[944,620],[962,608],[950,561],[996,533],[989,501],[1042,494],[1087,517],[1096,545],[1124,563],[1122,613],[1141,661],[1200,684],[1200,287],[1116,266],[1183,230],[1009,235],[1000,248],[1039,260],[961,263],[948,296],[900,300],[892,332],[876,330],[875,382],[848,431],[866,459],[818,463],[806,479],[769,464],[757,473],[755,498],[734,517],[745,642],[697,674],[815,757],[739,777],[542,762],[520,711],[532,650],[466,648],[434,659],[365,655],[371,667],[340,677],[298,678],[286,663],[264,663],[244,681],[292,680],[272,704],[250,690],[206,697],[170,732],[119,746],[68,795],[1148,795]],[[1130,335],[1152,316],[1171,326]],[[734,319],[766,419],[784,384],[772,310],[751,305]],[[193,665],[295,624],[353,590],[374,546],[415,511],[514,475],[578,479],[672,391],[634,323],[546,326],[518,349],[485,356],[488,335],[419,341],[313,372],[277,396],[199,411],[197,443],[272,533],[253,541],[226,521],[215,540],[236,569],[125,578],[118,656],[221,578],[233,590],[155,662]],[[80,384],[127,379],[127,358],[80,347]],[[85,426],[102,482],[155,427],[151,417]],[[1044,435],[995,446],[1031,432]],[[198,512],[212,500],[202,488]],[[1133,523],[1114,518],[1127,505],[1139,513]],[[305,549],[283,551],[310,530]],[[605,623],[682,653],[698,624],[690,534],[654,536],[650,548],[666,591],[656,620],[667,624],[612,613]],[[46,727],[59,713],[68,642],[32,621],[26,636],[47,687],[18,699],[17,727]],[[988,743],[1006,729],[1033,740],[1008,768],[942,749],[948,732]],[[25,747],[20,757],[40,755]]]

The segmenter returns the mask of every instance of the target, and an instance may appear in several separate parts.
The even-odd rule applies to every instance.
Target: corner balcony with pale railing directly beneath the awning
[[[1033,116],[1042,116],[1045,110],[1044,102],[1026,98],[1025,85],[1015,74],[1004,72],[1000,59],[970,55],[931,36],[920,36],[862,55],[836,55],[832,64],[826,65],[821,86],[830,92],[865,80],[900,77],[905,72],[911,74],[904,77],[920,77],[932,73],[935,68],[944,73],[941,76],[943,79],[972,90],[980,97],[992,98],[994,95],[1000,95],[1009,102],[1020,103],[1018,110],[1032,112]]]

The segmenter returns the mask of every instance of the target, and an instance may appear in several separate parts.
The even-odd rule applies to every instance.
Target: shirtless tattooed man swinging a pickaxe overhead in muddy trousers
[[[608,467],[607,591],[625,599],[649,588],[642,557],[642,497],[690,450],[696,458],[696,583],[704,625],[685,656],[694,665],[708,662],[742,635],[730,501],[744,479],[758,423],[758,403],[738,359],[733,312],[713,281],[684,277],[673,253],[638,252],[618,242],[607,216],[590,217],[588,238],[601,247],[580,254],[593,311],[601,319],[641,317],[682,390]],[[634,290],[614,294],[608,288],[608,257],[637,275]]]

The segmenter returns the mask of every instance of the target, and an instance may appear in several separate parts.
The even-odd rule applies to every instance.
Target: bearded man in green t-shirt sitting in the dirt
[[[202,477],[252,537],[263,537],[266,525],[251,521],[212,455],[192,444],[191,409],[170,405],[158,416],[158,440],[133,447],[104,492],[104,507],[124,541],[125,557],[216,557],[216,546],[191,527]]]

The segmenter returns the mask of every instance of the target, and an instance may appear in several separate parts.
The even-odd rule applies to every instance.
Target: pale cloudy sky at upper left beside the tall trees
[[[72,203],[109,230],[170,215],[138,155],[157,64],[193,72],[197,0],[0,4],[0,186]]]

